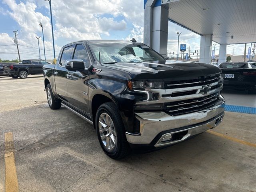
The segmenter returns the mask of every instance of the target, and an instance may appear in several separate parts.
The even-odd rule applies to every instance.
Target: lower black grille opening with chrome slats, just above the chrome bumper
[[[203,110],[215,105],[218,102],[218,94],[219,93],[215,93],[200,98],[165,103],[164,111],[169,115],[175,116]]]

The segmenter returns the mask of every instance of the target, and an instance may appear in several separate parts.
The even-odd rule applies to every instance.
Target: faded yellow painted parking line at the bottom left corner
[[[12,132],[5,134],[5,186],[6,192],[19,191]]]

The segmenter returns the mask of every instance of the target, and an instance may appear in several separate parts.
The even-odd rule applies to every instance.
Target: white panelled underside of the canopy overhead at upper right
[[[219,44],[256,41],[256,0],[162,0],[168,18]]]

